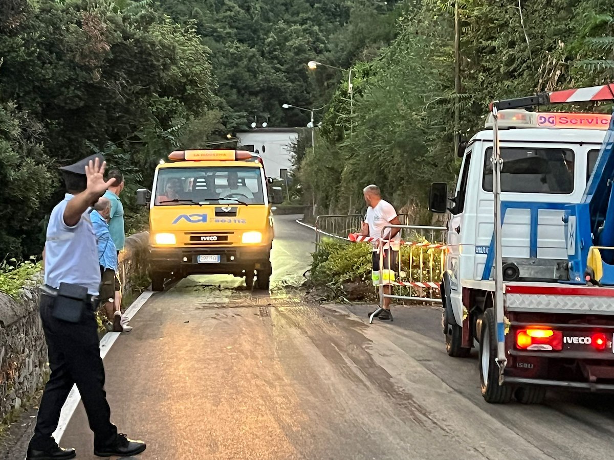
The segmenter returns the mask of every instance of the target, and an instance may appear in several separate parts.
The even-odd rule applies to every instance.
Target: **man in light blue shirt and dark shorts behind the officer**
[[[104,196],[98,199],[91,212],[91,223],[98,240],[98,263],[100,264],[100,303],[104,305],[107,318],[113,324],[114,332],[130,332],[128,318],[120,310],[121,293],[119,278],[117,277],[117,250],[109,233],[109,214],[111,202]]]

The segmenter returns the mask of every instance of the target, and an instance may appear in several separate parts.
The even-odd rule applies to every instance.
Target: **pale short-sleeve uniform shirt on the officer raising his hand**
[[[87,293],[98,295],[100,266],[96,234],[89,212],[84,212],[74,227],[64,223],[64,210],[71,194],[61,201],[49,217],[45,241],[45,284],[59,288],[60,283],[72,283],[87,288]]]

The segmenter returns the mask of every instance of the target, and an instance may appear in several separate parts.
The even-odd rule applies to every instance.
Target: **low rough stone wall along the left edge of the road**
[[[130,293],[147,283],[149,234],[126,238],[120,253],[123,291]],[[14,299],[0,293],[0,422],[42,388],[49,375],[47,345],[38,312],[36,285],[22,289]],[[128,305],[125,305],[126,307]]]

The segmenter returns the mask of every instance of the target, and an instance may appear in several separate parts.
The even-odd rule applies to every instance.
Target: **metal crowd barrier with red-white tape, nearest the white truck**
[[[391,257],[391,251],[395,248],[387,243],[386,236],[394,228],[399,229],[401,243],[398,245],[397,267],[394,267],[394,275],[389,277],[388,281],[384,280],[384,266],[386,258]],[[441,303],[439,286],[445,269],[447,231],[446,227],[420,225],[388,225],[382,230],[382,249],[379,250],[379,308],[371,314],[369,323],[383,309],[385,298]]]

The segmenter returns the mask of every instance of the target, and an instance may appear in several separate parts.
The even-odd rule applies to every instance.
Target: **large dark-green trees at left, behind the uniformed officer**
[[[56,166],[104,151],[136,185],[194,120],[214,128],[215,83],[195,29],[145,4],[4,5],[0,255],[25,256],[40,253]]]

